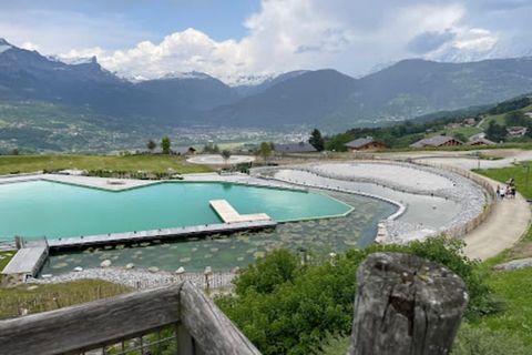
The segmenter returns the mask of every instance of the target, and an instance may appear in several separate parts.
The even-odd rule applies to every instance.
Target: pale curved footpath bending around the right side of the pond
[[[463,168],[461,164],[453,164],[453,159],[424,161]],[[490,182],[493,190],[497,189],[497,185],[501,185],[498,181],[479,176]],[[490,216],[463,237],[467,244],[466,255],[471,258],[487,260],[512,247],[526,232],[530,220],[529,203],[521,194],[518,194],[515,200],[504,199],[504,201],[497,202]]]

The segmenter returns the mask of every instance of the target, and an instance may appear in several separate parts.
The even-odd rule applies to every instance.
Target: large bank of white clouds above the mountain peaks
[[[512,9],[519,11],[516,4],[521,7],[523,1],[512,1]],[[437,60],[483,59],[500,54],[503,48],[509,55],[510,31],[493,28],[497,22],[487,20],[492,19],[493,9],[501,8],[495,3],[481,0],[472,8],[472,2],[466,0],[263,0],[260,9],[243,23],[247,34],[226,41],[216,41],[197,29],[154,40],[151,33],[137,31],[120,19],[79,14],[59,24],[35,24],[42,33],[34,39],[30,34],[35,31],[28,27],[25,32],[20,26],[19,31],[8,29],[0,14],[0,33],[14,31],[19,43],[31,40],[31,48],[38,43],[48,53],[59,52],[64,58],[96,55],[103,67],[124,77],[158,78],[168,72],[202,71],[231,82],[241,75],[319,68],[356,75],[379,63],[419,55]],[[512,9],[504,16],[511,16]],[[59,29],[61,23],[72,30]],[[13,21],[11,24],[18,26]],[[105,36],[109,28],[113,36]],[[119,45],[120,34],[124,36],[123,42],[136,44]],[[90,45],[79,45],[80,38]],[[503,39],[507,47],[501,44]],[[57,44],[60,42],[62,45]]]

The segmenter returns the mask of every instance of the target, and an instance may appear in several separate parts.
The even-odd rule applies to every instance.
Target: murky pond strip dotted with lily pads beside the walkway
[[[275,230],[214,235],[208,239],[188,239],[181,242],[141,243],[52,255],[41,274],[59,274],[76,266],[98,267],[104,260],[113,266],[133,263],[136,267],[157,266],[175,271],[227,271],[246,266],[265,253],[287,247],[306,248],[314,257],[325,257],[330,252],[362,247],[375,239],[378,221],[396,211],[396,206],[375,199],[329,193],[355,210],[345,217],[279,224]]]

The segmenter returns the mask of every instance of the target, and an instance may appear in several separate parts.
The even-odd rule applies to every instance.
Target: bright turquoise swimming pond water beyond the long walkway
[[[277,222],[345,215],[351,206],[316,192],[231,183],[171,182],[121,192],[31,181],[0,185],[0,240],[94,235],[222,223],[209,200]]]

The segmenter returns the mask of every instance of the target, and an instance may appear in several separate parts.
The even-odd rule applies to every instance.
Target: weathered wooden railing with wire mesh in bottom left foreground
[[[0,353],[10,355],[260,354],[186,281],[2,321],[0,344]]]

